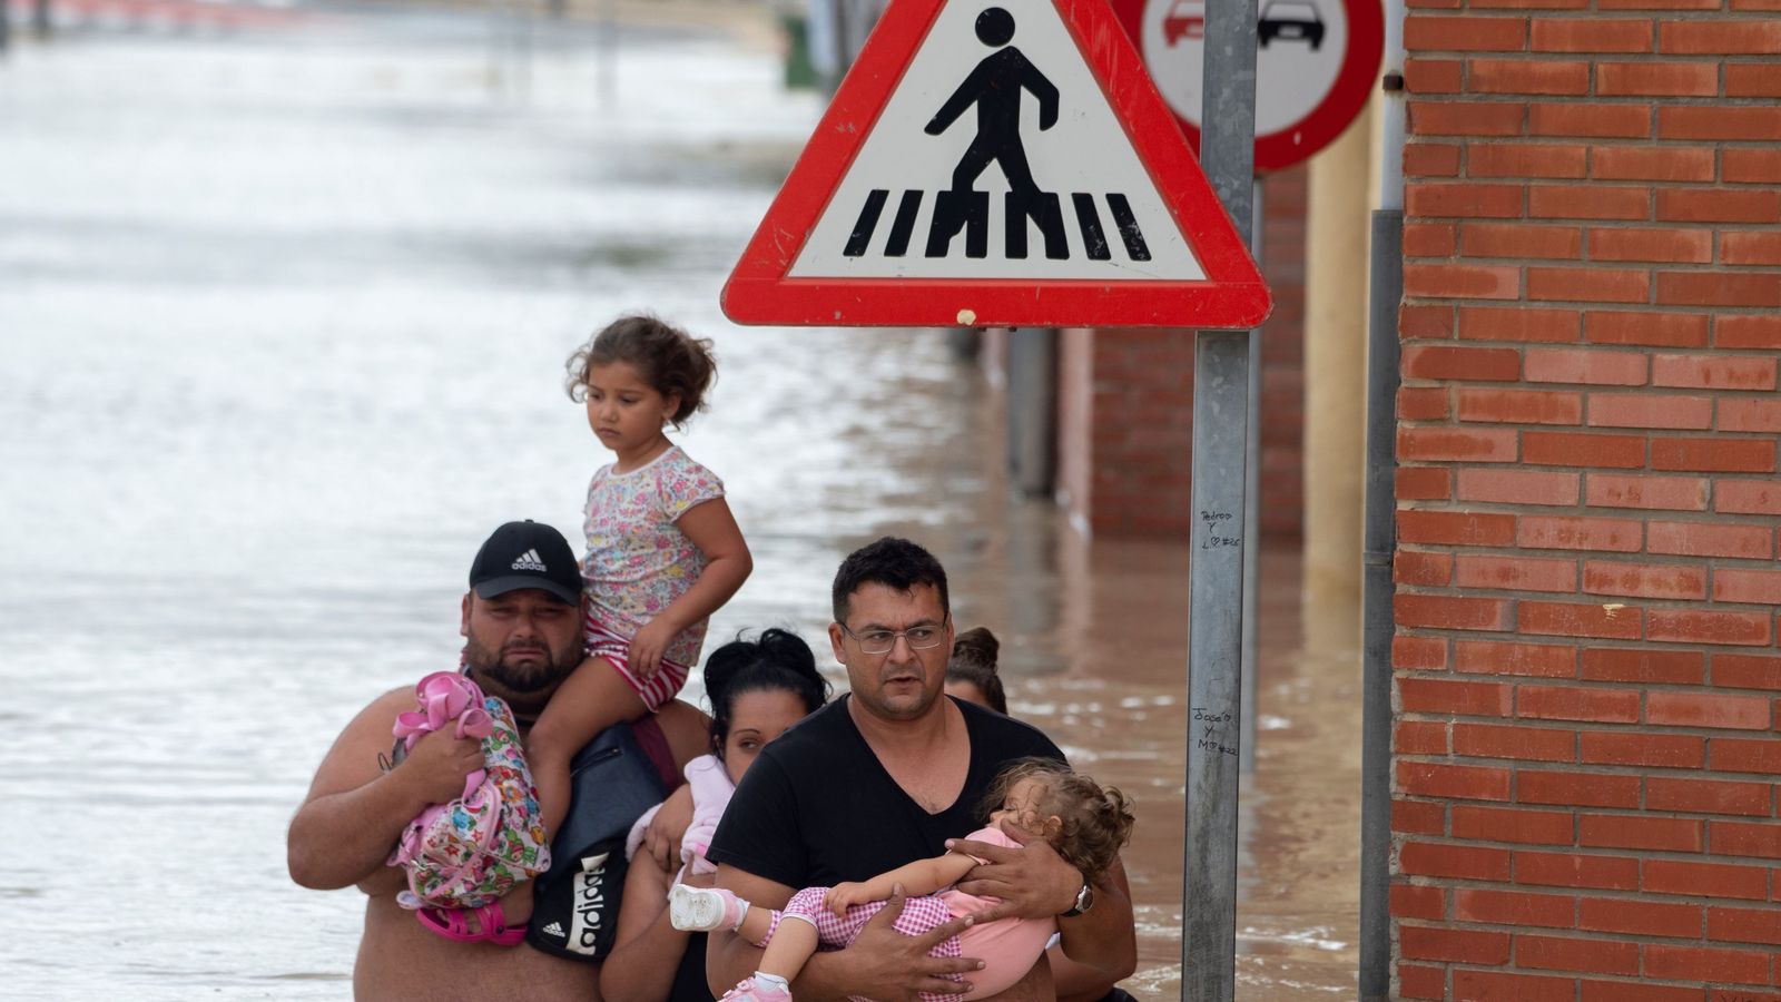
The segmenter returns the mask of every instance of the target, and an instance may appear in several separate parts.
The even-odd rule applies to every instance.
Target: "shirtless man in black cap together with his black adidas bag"
[[[581,572],[561,533],[538,522],[495,530],[470,565],[459,633],[463,670],[513,708],[525,731],[557,685],[582,660]],[[623,852],[613,833],[679,783],[687,760],[709,751],[703,715],[684,702],[634,726],[602,733],[577,758],[575,797],[536,881],[527,945],[454,943],[395,904],[403,870],[385,865],[408,822],[427,804],[463,793],[483,765],[479,742],[435,731],[394,767],[395,715],[413,710],[413,688],[378,697],[335,742],[290,822],[296,883],[367,895],[353,990],[360,998],[598,998],[598,965],[609,947],[623,886]],[[588,795],[582,795],[582,793]],[[522,900],[522,899],[520,899]],[[524,916],[513,916],[524,922]],[[554,956],[552,956],[554,954]]]

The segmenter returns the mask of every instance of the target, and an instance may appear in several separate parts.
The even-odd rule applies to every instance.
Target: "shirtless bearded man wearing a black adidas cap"
[[[483,544],[470,567],[459,622],[465,663],[484,694],[508,701],[522,733],[581,663],[579,603],[575,554],[550,526],[508,522]],[[354,997],[598,1002],[597,963],[563,959],[531,945],[443,940],[395,904],[395,893],[406,886],[403,870],[385,865],[395,840],[422,808],[461,795],[463,777],[483,765],[479,742],[454,738],[447,729],[420,738],[385,772],[379,756],[390,754],[390,727],[413,702],[413,686],[404,686],[354,717],[315,770],[290,822],[289,865],[297,884],[315,890],[358,884],[367,895],[365,934],[353,968]],[[703,715],[686,702],[664,706],[636,731],[655,772],[668,779],[709,747]],[[673,763],[659,761],[668,754]],[[618,916],[616,899],[614,888],[607,920]]]

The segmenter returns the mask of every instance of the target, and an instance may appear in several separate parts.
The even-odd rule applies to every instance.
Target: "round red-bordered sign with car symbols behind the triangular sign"
[[[1199,152],[1206,2],[1111,4]],[[1256,173],[1268,173],[1309,159],[1361,114],[1378,78],[1386,20],[1378,0],[1261,0],[1256,43]]]

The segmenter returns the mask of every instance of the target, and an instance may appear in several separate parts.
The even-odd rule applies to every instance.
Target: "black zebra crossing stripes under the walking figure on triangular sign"
[[[907,189],[898,198],[896,216],[880,246],[883,257],[908,257],[910,241],[915,237],[915,225],[926,194],[921,189]],[[956,237],[960,232],[965,235],[964,253],[967,259],[988,257],[990,193],[940,189],[933,196],[933,214],[928,223],[921,257],[947,257],[958,242]],[[1051,260],[1069,260],[1070,246],[1065,235],[1065,219],[1058,194],[1040,191],[1037,196],[1037,209],[1029,209],[1029,203],[1035,200],[1028,193],[1010,191],[1003,196],[1003,253],[1012,260],[1024,260],[1028,257],[1028,219],[1031,218],[1044,237],[1045,257]],[[1131,210],[1131,201],[1120,193],[1102,194],[1101,200],[1113,219],[1113,228],[1118,232],[1126,257],[1131,260],[1151,260],[1151,248],[1145,244],[1143,228],[1138,225],[1138,216]],[[848,244],[841,251],[844,257],[866,257],[871,251],[873,237],[878,234],[885,205],[889,203],[889,189],[874,187],[867,193],[866,203],[860,205],[860,214],[853,223],[853,232],[848,235]],[[1070,193],[1070,207],[1076,214],[1078,232],[1083,237],[1083,255],[1088,260],[1111,260],[1113,246],[1108,242],[1108,232],[1102,225],[1095,194],[1086,191]]]

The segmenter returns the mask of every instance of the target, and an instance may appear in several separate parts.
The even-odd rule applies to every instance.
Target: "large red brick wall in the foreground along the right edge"
[[[1398,997],[1781,998],[1777,0],[1411,0]]]

